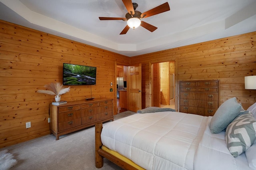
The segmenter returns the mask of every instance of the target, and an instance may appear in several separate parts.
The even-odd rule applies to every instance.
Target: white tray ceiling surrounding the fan
[[[70,40],[136,56],[256,31],[256,0],[133,0],[146,12],[165,2],[170,11],[141,19],[158,27],[129,29],[121,0],[0,0],[5,20]]]

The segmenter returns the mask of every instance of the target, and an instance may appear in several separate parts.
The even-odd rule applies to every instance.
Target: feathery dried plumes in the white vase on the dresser
[[[50,83],[49,85],[44,86],[46,90],[38,90],[38,93],[44,93],[47,95],[63,95],[70,91],[70,87],[63,88],[63,85],[60,83]]]

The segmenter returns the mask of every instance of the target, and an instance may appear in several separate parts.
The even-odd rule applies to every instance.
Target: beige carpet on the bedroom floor
[[[133,114],[131,111],[119,113],[114,120]],[[48,134],[0,151],[7,149],[17,160],[10,170],[96,170],[94,132],[95,128],[90,127],[60,136],[59,140]],[[121,170],[106,159],[101,169]]]

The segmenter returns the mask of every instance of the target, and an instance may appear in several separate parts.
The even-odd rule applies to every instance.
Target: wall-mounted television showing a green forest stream
[[[96,67],[63,63],[63,85],[96,85]]]

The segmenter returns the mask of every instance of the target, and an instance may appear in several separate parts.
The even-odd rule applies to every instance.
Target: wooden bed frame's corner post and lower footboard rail
[[[130,164],[124,162],[123,160],[117,158],[116,156],[113,156],[112,154],[109,154],[108,152],[101,149],[102,147],[102,142],[100,138],[101,131],[102,131],[102,123],[96,123],[95,124],[95,166],[96,168],[102,168],[103,158],[107,158],[108,160],[120,166],[124,170],[137,170]]]

